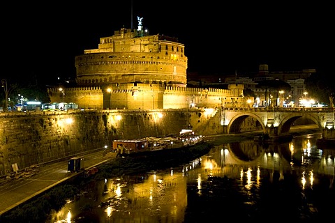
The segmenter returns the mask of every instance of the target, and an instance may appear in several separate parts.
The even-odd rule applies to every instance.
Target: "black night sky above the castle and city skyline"
[[[246,2],[11,2],[1,15],[1,78],[74,77],[75,56],[98,48],[99,38],[122,26],[131,28],[131,15],[134,29],[138,15],[152,35],[184,43],[188,72],[231,75],[254,72],[261,63],[270,71],[329,72],[335,21],[330,4]]]

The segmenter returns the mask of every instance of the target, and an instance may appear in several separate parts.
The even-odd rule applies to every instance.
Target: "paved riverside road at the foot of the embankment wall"
[[[98,149],[98,151],[81,155],[81,157],[83,157],[81,167],[84,169],[83,171],[87,171],[114,159],[116,153],[108,153],[104,156],[103,149]],[[68,172],[68,160],[44,164],[36,168],[35,171],[31,172],[31,176],[27,174],[28,177],[23,177],[24,175],[17,174],[20,178],[2,180],[0,185],[0,215],[45,192],[45,190],[80,174]]]

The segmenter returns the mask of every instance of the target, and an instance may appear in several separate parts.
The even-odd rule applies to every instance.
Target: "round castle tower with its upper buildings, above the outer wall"
[[[98,49],[76,56],[76,82],[80,86],[137,82],[186,87],[184,52],[177,38],[121,29],[100,38]]]

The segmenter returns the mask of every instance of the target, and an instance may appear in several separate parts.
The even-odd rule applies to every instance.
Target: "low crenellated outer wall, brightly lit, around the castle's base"
[[[49,89],[49,95],[52,102],[63,101],[59,89]],[[247,99],[243,97],[241,84],[232,84],[230,89],[185,88],[163,84],[106,84],[66,89],[64,97],[65,102],[74,102],[84,109],[140,110],[248,107]]]

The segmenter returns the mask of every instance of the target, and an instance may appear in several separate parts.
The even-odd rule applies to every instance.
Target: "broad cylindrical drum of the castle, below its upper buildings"
[[[83,54],[76,57],[76,82],[82,85],[117,82],[186,84],[186,57],[180,61],[159,55],[131,52]]]

